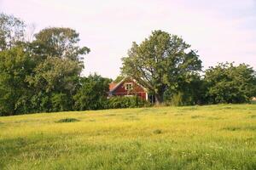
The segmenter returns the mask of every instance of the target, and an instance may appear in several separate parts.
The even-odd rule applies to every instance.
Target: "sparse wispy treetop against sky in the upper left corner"
[[[24,41],[25,24],[13,15],[0,14],[0,51]]]

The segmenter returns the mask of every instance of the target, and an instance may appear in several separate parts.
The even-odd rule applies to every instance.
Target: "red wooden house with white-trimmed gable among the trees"
[[[121,82],[109,84],[108,96],[134,96],[148,100],[147,89],[131,77],[125,77]]]

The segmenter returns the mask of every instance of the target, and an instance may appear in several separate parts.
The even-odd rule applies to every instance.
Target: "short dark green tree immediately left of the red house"
[[[109,82],[110,79],[96,74],[81,78],[81,87],[73,97],[74,109],[84,111],[106,108]]]

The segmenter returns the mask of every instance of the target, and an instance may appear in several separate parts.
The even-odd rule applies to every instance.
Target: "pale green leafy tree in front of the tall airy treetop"
[[[73,95],[79,87],[81,67],[77,61],[49,57],[26,80],[34,89],[34,108],[38,111],[72,110]]]

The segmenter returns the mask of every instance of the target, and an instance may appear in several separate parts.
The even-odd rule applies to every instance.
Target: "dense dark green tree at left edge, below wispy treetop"
[[[29,88],[26,77],[35,65],[22,47],[0,52],[0,115],[16,115],[31,111]]]

